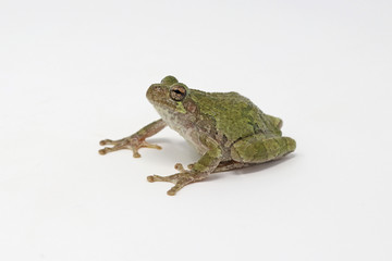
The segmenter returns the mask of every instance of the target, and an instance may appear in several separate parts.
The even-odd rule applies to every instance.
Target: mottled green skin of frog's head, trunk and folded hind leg
[[[237,92],[205,92],[180,84],[186,97],[174,101],[169,94],[172,85],[179,85],[174,77],[163,78],[150,86],[147,98],[162,120],[201,154],[210,150],[205,138],[215,141],[221,161],[261,163],[295,149],[293,139],[281,137],[280,119],[262,113]]]

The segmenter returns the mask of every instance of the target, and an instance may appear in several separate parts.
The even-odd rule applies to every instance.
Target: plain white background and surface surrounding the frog
[[[0,260],[392,260],[392,2],[0,2]],[[173,74],[284,120],[287,159],[175,197],[196,152],[99,156]]]

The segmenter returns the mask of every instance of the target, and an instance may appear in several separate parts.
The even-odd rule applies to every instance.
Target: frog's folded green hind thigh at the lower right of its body
[[[245,163],[261,163],[278,159],[295,150],[295,140],[289,137],[267,138],[256,134],[243,138],[231,148],[233,160]]]

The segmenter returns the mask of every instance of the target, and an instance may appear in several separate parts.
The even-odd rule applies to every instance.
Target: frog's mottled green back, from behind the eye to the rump
[[[262,133],[267,137],[281,136],[281,132],[249,99],[237,92],[204,92],[191,90],[192,98],[199,104],[201,117],[216,122],[230,141]]]

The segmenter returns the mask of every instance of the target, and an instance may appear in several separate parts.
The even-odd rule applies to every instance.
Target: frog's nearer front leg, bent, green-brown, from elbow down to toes
[[[152,175],[148,176],[148,182],[170,182],[174,183],[174,186],[168,191],[169,196],[174,196],[184,186],[203,181],[213,172],[219,165],[222,157],[222,151],[217,141],[210,138],[206,138],[203,142],[208,147],[208,151],[194,164],[191,170],[184,170],[182,164],[175,164],[175,169],[180,173],[170,176]]]

